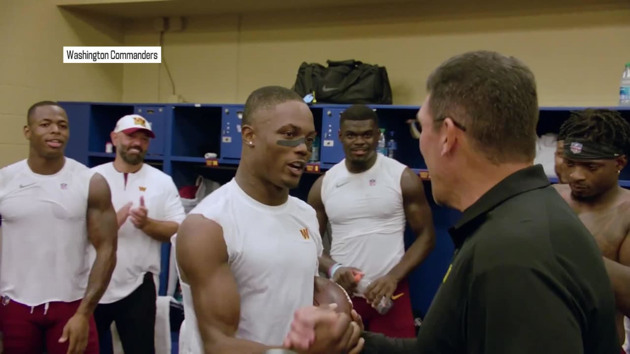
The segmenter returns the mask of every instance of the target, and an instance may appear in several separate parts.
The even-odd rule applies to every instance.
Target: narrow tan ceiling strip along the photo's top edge
[[[116,18],[192,16],[249,13],[288,9],[338,8],[420,3],[421,0],[55,0],[66,9],[77,9]]]

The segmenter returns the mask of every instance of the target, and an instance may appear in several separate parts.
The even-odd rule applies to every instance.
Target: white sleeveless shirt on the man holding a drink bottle
[[[345,159],[329,169],[321,200],[331,226],[330,256],[375,279],[386,275],[404,255],[403,194],[407,166],[377,154],[372,168],[350,173]]]

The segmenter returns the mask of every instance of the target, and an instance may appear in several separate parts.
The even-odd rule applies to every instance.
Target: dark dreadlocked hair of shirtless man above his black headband
[[[585,139],[630,153],[630,123],[618,111],[592,109],[572,111],[560,127],[558,140]]]

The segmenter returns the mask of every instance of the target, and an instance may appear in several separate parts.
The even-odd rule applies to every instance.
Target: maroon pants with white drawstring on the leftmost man
[[[66,354],[69,340],[59,343],[67,321],[81,300],[50,302],[48,306],[27,306],[3,297],[0,302],[0,332],[6,354]],[[98,354],[98,334],[92,317],[89,321],[85,354]]]

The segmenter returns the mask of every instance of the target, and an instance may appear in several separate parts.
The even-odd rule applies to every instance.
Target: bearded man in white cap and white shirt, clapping
[[[111,134],[115,160],[93,168],[109,183],[118,223],[122,224],[117,265],[95,311],[101,353],[111,351],[105,339],[112,322],[125,353],[155,352],[161,244],[177,232],[185,213],[173,179],[144,163],[151,138],[155,134],[144,117],[120,118]]]

